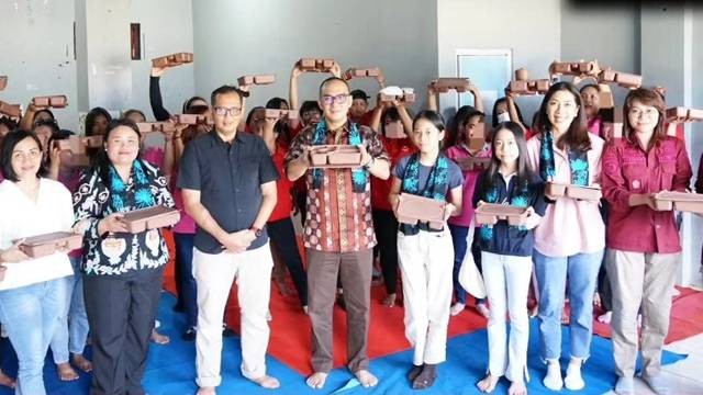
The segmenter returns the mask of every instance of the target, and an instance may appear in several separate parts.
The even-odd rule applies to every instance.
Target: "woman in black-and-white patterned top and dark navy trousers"
[[[77,227],[85,232],[83,289],[93,345],[91,393],[143,394],[149,335],[168,250],[159,229],[127,233],[124,213],[172,207],[167,181],[138,157],[140,132],[112,122],[104,151],[74,194]]]

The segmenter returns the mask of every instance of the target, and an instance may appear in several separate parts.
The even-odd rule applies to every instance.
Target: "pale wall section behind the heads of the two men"
[[[272,97],[288,99],[290,70],[301,57],[332,57],[343,70],[378,66],[388,83],[421,88],[437,74],[436,34],[436,0],[358,0],[354,7],[319,0],[198,0],[196,90],[209,97],[242,75],[275,74],[276,84],[257,88],[247,106],[264,105]],[[299,79],[301,103],[317,98],[326,77]],[[378,90],[370,81],[352,86],[367,93]]]

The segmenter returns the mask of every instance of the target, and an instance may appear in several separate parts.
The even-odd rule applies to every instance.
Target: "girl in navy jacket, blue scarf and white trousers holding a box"
[[[515,122],[498,125],[493,133],[493,158],[479,176],[473,205],[486,203],[526,207],[523,226],[499,221],[481,225],[483,282],[491,305],[488,319],[489,363],[479,390],[490,393],[504,374],[511,381],[510,395],[525,395],[527,376],[527,291],[532,278],[533,230],[545,214],[544,182],[527,167],[527,145],[523,128]],[[505,335],[505,312],[510,315],[510,339]]]

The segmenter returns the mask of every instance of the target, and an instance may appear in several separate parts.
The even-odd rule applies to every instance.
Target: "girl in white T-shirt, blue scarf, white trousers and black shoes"
[[[405,337],[414,347],[409,379],[415,390],[432,386],[436,366],[446,359],[447,325],[451,304],[454,247],[446,221],[461,213],[461,169],[439,151],[444,121],[434,111],[423,111],[413,121],[411,138],[419,153],[401,158],[393,169],[389,201],[395,216],[400,193],[420,195],[445,205],[444,227],[427,223],[400,224],[398,257],[405,303]]]

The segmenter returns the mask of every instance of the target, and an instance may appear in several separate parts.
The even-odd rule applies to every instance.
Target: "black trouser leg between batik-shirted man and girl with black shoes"
[[[373,210],[373,230],[378,240],[383,284],[389,294],[398,291],[398,221],[392,211]]]

